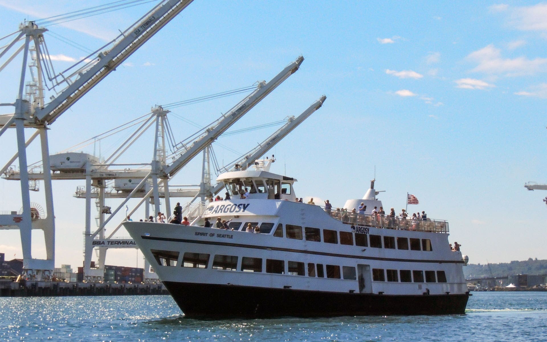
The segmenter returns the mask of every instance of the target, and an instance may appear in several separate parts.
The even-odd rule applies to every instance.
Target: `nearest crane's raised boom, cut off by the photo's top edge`
[[[61,92],[43,108],[37,108],[34,117],[42,123],[53,123],[74,102],[84,96],[110,72],[114,71],[127,57],[131,56],[142,44],[164,27],[177,14],[181,13],[193,0],[165,0],[156,5],[146,18],[136,22],[124,33],[112,49],[100,53],[97,63]]]

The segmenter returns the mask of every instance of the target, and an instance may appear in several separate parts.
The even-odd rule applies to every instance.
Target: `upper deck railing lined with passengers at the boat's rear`
[[[417,230],[417,231],[432,231],[435,233],[448,233],[448,222],[444,220],[433,219],[413,219],[403,218],[399,216],[372,215],[358,213],[346,210],[331,210],[325,209],[331,217],[349,224],[368,225],[369,227],[399,229],[399,230]]]

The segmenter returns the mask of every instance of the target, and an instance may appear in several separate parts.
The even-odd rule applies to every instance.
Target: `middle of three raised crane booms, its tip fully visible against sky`
[[[183,152],[171,165],[166,165],[163,169],[165,175],[174,175],[177,171],[200,153],[208,144],[216,140],[221,134],[230,128],[238,119],[240,119],[245,113],[253,108],[258,102],[260,102],[266,95],[270,94],[272,90],[277,88],[284,80],[290,75],[296,72],[300,67],[304,57],[298,57],[294,62],[290,63],[283,69],[276,77],[272,78],[268,83],[261,83],[257,90],[253,91],[245,99],[243,99],[236,106],[232,107],[230,111],[226,112],[222,118],[216,121],[211,127],[205,131],[205,134],[199,137],[185,152]]]

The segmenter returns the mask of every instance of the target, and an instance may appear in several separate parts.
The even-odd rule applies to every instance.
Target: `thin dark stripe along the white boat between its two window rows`
[[[216,242],[216,241],[197,241],[197,240],[188,240],[188,239],[174,239],[171,237],[154,237],[154,236],[145,236],[141,235],[143,240],[156,240],[156,241],[169,241],[169,242],[185,242],[187,244],[200,244],[200,245],[214,245],[214,246],[230,246],[230,247],[241,247],[241,248],[252,248],[255,250],[268,250],[268,251],[281,251],[281,252],[293,252],[293,253],[302,253],[302,254],[314,254],[318,256],[328,256],[328,257],[340,257],[340,258],[350,258],[350,259],[363,259],[363,260],[382,260],[382,261],[395,261],[395,262],[409,262],[409,263],[434,263],[434,264],[464,264],[463,260],[421,260],[421,259],[400,259],[400,258],[379,258],[379,257],[364,257],[364,256],[351,256],[349,254],[338,254],[338,253],[325,253],[325,252],[316,252],[316,251],[304,251],[304,250],[295,250],[293,248],[281,248],[281,247],[267,247],[267,246],[255,246],[255,245],[244,245],[244,244],[233,244],[230,242]],[[371,248],[371,247],[369,247]]]

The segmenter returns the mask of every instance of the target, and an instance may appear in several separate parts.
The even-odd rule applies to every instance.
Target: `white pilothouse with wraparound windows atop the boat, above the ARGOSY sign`
[[[222,173],[217,181],[223,182],[232,200],[271,199],[294,201],[293,183],[296,179],[269,172],[274,159],[258,160],[253,170]],[[236,169],[237,166],[236,166]]]

